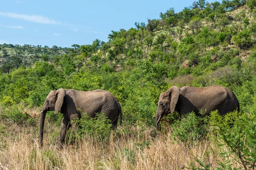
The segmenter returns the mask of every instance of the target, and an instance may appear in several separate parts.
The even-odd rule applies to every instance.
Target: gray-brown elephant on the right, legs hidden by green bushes
[[[233,91],[220,85],[204,88],[184,86],[180,89],[173,86],[160,94],[156,112],[157,129],[160,120],[169,113],[177,111],[181,116],[193,111],[200,116],[201,109],[206,110],[205,116],[215,110],[224,115],[236,109],[239,111],[239,101]]]

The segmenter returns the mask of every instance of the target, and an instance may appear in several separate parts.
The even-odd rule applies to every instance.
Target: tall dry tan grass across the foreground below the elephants
[[[97,142],[96,138],[86,136],[80,142],[58,149],[56,138],[51,137],[51,131],[58,132],[59,127],[55,125],[45,125],[42,148],[36,127],[6,122],[0,122],[0,127],[0,169],[3,170],[179,170],[195,163],[194,157],[214,169],[222,160],[214,142],[197,142],[193,148],[186,149],[181,142],[174,141],[170,132],[152,135],[153,128],[131,135],[124,127],[118,127],[116,133],[111,133],[109,142]],[[138,141],[148,141],[149,145],[139,147]],[[238,163],[233,164],[239,167]]]

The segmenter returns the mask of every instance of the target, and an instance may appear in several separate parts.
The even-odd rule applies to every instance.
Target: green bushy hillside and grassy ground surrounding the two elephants
[[[1,169],[255,169],[256,2],[195,1],[179,13],[111,31],[108,42],[61,48],[0,45]],[[121,26],[120,26],[121,27]],[[240,113],[169,114],[155,128],[160,93],[171,86],[222,85]],[[57,149],[62,115],[41,107],[51,90],[104,89],[118,99],[123,124],[81,120]]]

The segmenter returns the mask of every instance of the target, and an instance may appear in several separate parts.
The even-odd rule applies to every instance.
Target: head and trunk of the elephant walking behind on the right
[[[173,113],[175,105],[178,101],[180,89],[177,86],[172,86],[167,91],[160,94],[157,112],[156,112],[156,126],[158,126],[161,118],[169,113]]]

